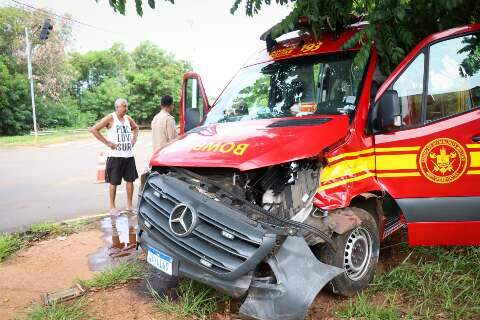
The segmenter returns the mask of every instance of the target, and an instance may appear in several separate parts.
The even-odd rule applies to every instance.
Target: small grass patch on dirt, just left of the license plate
[[[78,282],[88,289],[107,289],[125,284],[130,280],[143,279],[146,273],[147,269],[140,261],[126,260],[97,274],[91,280],[78,280]]]

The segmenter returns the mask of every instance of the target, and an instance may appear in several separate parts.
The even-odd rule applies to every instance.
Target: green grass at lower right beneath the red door
[[[389,308],[398,310],[402,302],[407,319],[474,319],[480,315],[480,248],[416,248],[339,315],[377,319],[362,310],[375,310],[380,293],[398,295]]]

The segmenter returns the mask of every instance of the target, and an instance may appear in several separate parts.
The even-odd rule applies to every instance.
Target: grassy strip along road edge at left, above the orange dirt
[[[91,225],[92,220],[52,223],[43,222],[31,225],[27,230],[0,235],[0,263],[17,251],[29,247],[35,242],[52,237],[68,236]]]

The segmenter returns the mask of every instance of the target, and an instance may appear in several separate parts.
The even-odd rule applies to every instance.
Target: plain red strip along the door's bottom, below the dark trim
[[[411,246],[478,245],[480,221],[416,222],[408,224]]]

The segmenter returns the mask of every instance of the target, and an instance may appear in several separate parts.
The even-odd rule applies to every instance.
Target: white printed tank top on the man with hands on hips
[[[117,149],[108,150],[109,157],[117,158],[130,158],[133,157],[132,152],[132,127],[130,126],[130,121],[125,115],[123,117],[123,123],[117,117],[115,112],[112,113],[113,125],[108,129],[108,140],[117,145]]]

